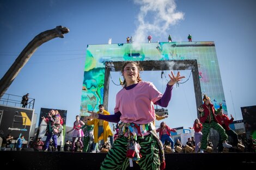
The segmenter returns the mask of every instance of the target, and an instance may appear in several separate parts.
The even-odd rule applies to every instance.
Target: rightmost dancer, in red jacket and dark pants
[[[216,115],[217,121],[218,123],[225,129],[225,133],[228,136],[231,136],[233,139],[233,147],[237,147],[238,144],[238,135],[235,133],[234,130],[229,128],[229,124],[233,122],[234,118],[232,115],[231,119],[228,118],[227,115],[224,115],[222,110],[220,111],[220,113],[218,115]],[[218,142],[218,152],[222,152],[223,151],[223,146],[222,146],[222,141],[221,141],[221,136],[220,136],[220,140]]]

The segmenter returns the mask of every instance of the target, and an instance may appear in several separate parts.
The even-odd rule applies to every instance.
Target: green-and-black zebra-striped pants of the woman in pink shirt
[[[127,137],[120,136],[115,140],[113,147],[109,150],[105,160],[101,163],[100,169],[125,170],[129,166],[129,158],[126,157]],[[138,136],[137,142],[141,146],[139,152],[142,154],[138,161],[141,169],[160,169],[159,144],[152,134]]]

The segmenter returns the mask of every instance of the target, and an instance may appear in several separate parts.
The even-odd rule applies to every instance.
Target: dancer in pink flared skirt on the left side
[[[76,121],[74,122],[74,127],[73,129],[67,131],[67,134],[70,133],[71,131],[72,132],[72,146],[71,146],[71,151],[74,152],[75,150],[75,141],[76,141],[76,138],[78,137],[78,142],[80,142],[81,144],[81,148],[83,148],[83,142],[81,140],[81,137],[84,136],[83,134],[83,130],[81,129],[81,127],[84,125],[84,122],[80,120],[80,116],[77,115],[76,116]]]

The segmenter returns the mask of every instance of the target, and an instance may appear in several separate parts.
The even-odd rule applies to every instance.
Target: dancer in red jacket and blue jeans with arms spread
[[[171,131],[176,132],[177,130],[168,127],[168,125],[166,125],[166,122],[161,122],[160,128],[156,129],[156,132],[159,132],[159,138],[160,138],[161,142],[163,143],[163,145],[164,145],[165,141],[169,141],[172,144],[173,152],[175,152],[174,141],[172,139],[172,135],[170,135]]]

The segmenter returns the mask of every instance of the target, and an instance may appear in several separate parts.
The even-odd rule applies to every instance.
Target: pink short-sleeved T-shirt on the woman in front
[[[132,89],[123,88],[117,93],[114,112],[121,112],[121,122],[146,124],[155,120],[154,103],[162,96],[153,83],[141,81]]]

